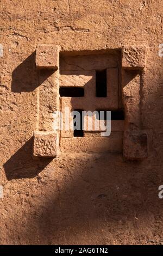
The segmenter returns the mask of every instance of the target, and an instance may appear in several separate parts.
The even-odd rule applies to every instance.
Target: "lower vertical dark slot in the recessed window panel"
[[[73,136],[74,137],[84,137],[84,132],[83,132],[84,120],[83,120],[83,115],[82,115],[83,110],[82,109],[74,109],[74,111],[78,111],[78,114],[76,115],[74,113],[74,115],[73,115]],[[77,120],[77,116],[79,117],[79,120]],[[78,124],[77,124],[77,121],[79,121]]]

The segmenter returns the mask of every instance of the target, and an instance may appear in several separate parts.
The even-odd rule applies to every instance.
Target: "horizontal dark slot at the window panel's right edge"
[[[106,120],[106,110],[96,110],[97,115],[96,118],[98,120]],[[109,110],[108,110],[109,111]],[[124,120],[124,112],[122,110],[120,111],[111,111],[111,120]]]

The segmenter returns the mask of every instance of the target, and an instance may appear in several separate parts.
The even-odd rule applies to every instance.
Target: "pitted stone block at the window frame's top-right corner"
[[[124,46],[122,47],[122,68],[143,69],[146,65],[145,46]]]

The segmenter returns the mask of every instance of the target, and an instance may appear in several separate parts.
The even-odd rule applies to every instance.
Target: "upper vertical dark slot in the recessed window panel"
[[[96,97],[107,96],[106,69],[96,70]]]

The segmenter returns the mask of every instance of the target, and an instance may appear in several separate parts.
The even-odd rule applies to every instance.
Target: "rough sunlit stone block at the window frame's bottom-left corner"
[[[58,153],[58,136],[54,131],[34,131],[33,155],[55,157]]]

